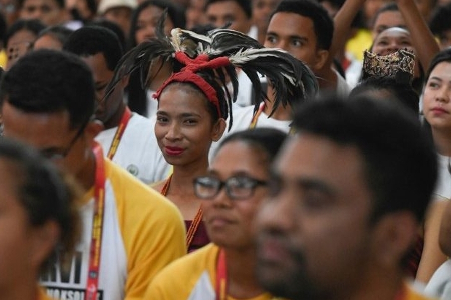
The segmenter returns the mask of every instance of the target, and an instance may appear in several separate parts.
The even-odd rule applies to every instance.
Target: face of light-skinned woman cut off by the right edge
[[[451,62],[441,62],[430,73],[423,94],[424,117],[433,130],[451,130],[450,100]]]

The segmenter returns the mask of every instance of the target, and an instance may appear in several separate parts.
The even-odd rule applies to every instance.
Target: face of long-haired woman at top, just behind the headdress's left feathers
[[[136,44],[141,44],[142,42],[156,36],[155,29],[162,14],[163,10],[153,5],[146,7],[141,11],[141,13],[139,13],[138,19],[136,21]],[[173,28],[174,24],[172,23],[170,18],[166,18],[166,21],[164,23],[165,34],[170,35]]]

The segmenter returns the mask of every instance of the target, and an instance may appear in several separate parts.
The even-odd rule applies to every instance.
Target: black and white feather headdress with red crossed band
[[[161,63],[170,62],[173,67],[173,75],[156,92],[157,99],[171,82],[193,83],[216,106],[220,117],[231,117],[230,125],[232,103],[238,94],[236,67],[241,68],[252,82],[257,97],[254,99],[256,109],[266,97],[259,77],[268,78],[275,90],[271,114],[279,104],[286,106],[303,101],[312,97],[318,89],[310,69],[283,50],[265,48],[247,35],[230,29],[214,29],[201,35],[176,28],[171,31],[170,37],[166,37],[162,32],[163,18],[159,21],[157,38],[136,46],[119,61],[106,95],[124,76],[136,69],[140,70],[143,87],[147,85],[152,80],[149,78],[149,68],[157,58]],[[232,94],[227,88],[229,80],[233,87]]]

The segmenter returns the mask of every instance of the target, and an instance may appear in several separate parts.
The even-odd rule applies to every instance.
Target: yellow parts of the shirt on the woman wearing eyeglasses
[[[193,289],[199,287],[200,277],[208,273],[209,286],[204,286],[205,289],[210,287],[214,290],[216,280],[216,260],[219,252],[219,247],[210,243],[205,247],[196,250],[180,259],[177,259],[166,268],[164,268],[152,281],[147,289],[144,300],[186,300],[200,299],[197,297],[190,297]],[[206,292],[208,293],[208,292]],[[211,295],[210,295],[211,296]],[[214,300],[214,295],[213,298]],[[234,300],[232,297],[227,297],[228,300]],[[268,293],[259,295],[247,300],[270,300],[272,296]],[[202,300],[210,300],[210,297],[204,297]],[[244,299],[242,299],[244,300]]]

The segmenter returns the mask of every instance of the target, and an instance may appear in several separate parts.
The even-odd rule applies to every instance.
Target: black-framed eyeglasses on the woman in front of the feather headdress
[[[230,177],[220,181],[216,177],[202,176],[194,179],[194,193],[202,199],[211,199],[225,187],[230,199],[245,199],[254,195],[258,186],[266,186],[267,182],[247,176]]]

